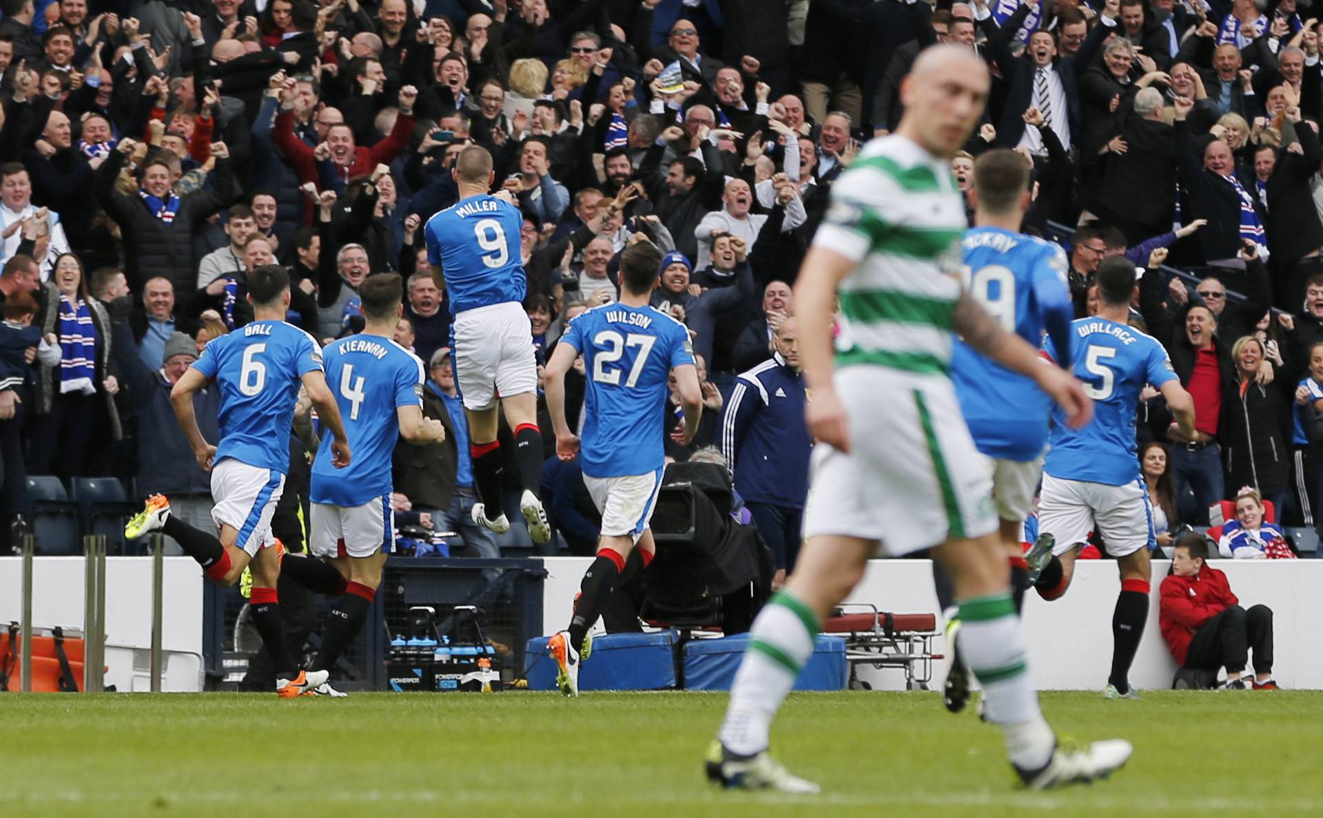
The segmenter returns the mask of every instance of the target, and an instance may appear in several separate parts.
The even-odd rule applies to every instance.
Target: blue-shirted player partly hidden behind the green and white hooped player
[[[1019,233],[1029,209],[1029,168],[1007,149],[988,151],[974,164],[974,222],[964,234],[962,274],[970,295],[1008,332],[1039,346],[1044,330],[1057,349],[1070,349],[1070,287],[1066,256],[1060,246]],[[1033,494],[1043,473],[1052,399],[1031,378],[1012,373],[957,341],[951,354],[955,395],[974,445],[992,477],[992,501],[1000,518],[1000,538],[1011,562],[1011,593],[1016,612],[1029,587],[1020,527],[1033,511]],[[937,562],[934,571],[941,571]],[[939,583],[941,589],[949,583]],[[949,608],[949,600],[941,600]],[[942,699],[951,712],[970,696],[968,673],[957,650],[959,618],[947,617],[950,669]]]

